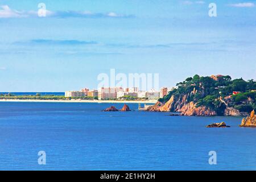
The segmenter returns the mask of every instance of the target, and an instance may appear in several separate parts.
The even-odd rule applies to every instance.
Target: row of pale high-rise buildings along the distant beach
[[[158,100],[163,98],[174,88],[163,87],[159,91],[151,89],[149,91],[141,91],[138,87],[133,88],[100,88],[98,90],[89,90],[87,88],[80,91],[66,91],[65,97],[91,97],[95,100]]]

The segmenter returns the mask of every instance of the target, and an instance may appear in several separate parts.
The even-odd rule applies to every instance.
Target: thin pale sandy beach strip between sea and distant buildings
[[[98,100],[0,100],[0,102],[63,102],[63,103],[108,103],[108,104],[155,104],[157,100],[151,101],[98,101]]]

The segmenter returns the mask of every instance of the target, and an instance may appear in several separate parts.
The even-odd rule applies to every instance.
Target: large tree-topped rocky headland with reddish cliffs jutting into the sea
[[[147,111],[177,112],[187,116],[249,115],[255,107],[253,84],[256,85],[256,82],[246,82],[242,78],[232,80],[230,76],[195,75],[177,84],[176,89],[148,107]],[[238,89],[245,91],[236,92],[236,96],[233,90]]]

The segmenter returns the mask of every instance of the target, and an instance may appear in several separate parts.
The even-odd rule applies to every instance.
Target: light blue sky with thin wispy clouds
[[[255,32],[252,0],[0,0],[0,92],[97,89],[112,68],[159,73],[160,87],[195,74],[256,80]]]

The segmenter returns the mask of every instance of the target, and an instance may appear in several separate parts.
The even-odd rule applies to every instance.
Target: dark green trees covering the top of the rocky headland
[[[232,80],[230,76],[195,75],[176,86],[177,89],[172,90],[159,101],[165,103],[171,96],[187,95],[188,102],[195,102],[197,107],[207,106],[217,113],[223,113],[226,106],[247,113],[256,109],[256,82],[253,79],[245,81],[242,78]],[[233,94],[233,92],[240,93]]]

